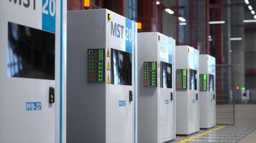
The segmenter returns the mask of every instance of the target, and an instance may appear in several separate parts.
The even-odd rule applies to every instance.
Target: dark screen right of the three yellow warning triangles
[[[111,49],[111,84],[132,85],[132,54]]]

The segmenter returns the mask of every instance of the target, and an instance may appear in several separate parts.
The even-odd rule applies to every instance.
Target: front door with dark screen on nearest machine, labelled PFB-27
[[[0,142],[54,143],[55,34],[12,22],[2,26]]]

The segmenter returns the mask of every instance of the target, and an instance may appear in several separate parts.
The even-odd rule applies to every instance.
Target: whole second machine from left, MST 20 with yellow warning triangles
[[[137,23],[68,11],[67,142],[137,142]]]

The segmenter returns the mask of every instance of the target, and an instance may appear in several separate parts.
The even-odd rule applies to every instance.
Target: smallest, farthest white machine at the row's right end
[[[213,56],[199,56],[200,128],[209,129],[216,125],[216,61]]]

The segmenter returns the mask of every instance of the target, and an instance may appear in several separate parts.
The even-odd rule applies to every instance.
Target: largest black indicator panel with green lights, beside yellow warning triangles
[[[88,82],[105,82],[105,49],[88,49]]]

